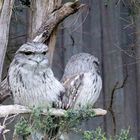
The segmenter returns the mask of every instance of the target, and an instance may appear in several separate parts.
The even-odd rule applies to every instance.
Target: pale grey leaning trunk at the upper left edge
[[[0,81],[2,77],[2,69],[7,49],[9,26],[12,14],[14,0],[5,0],[0,2]]]

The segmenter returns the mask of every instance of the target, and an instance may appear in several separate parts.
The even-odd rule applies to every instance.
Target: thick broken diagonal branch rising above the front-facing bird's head
[[[55,10],[49,15],[49,17],[47,17],[47,20],[42,23],[41,27],[34,35],[33,41],[48,41],[55,27],[57,27],[58,24],[62,22],[66,17],[76,13],[83,6],[84,4],[80,4],[79,0],[76,0],[75,2],[68,2],[61,6],[58,10]]]

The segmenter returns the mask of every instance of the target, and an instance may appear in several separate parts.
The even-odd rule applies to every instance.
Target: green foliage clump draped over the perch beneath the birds
[[[22,117],[17,123],[15,129],[16,133],[21,136],[26,136],[31,133],[32,130],[39,130],[52,137],[56,135],[58,128],[62,132],[68,132],[77,127],[82,120],[87,120],[94,116],[95,113],[90,108],[68,110],[65,116],[61,118],[52,116],[50,113],[44,114],[41,108],[34,108],[30,117],[28,119],[23,119]]]

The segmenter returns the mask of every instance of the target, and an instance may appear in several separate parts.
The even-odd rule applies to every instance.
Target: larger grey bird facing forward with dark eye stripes
[[[50,68],[48,46],[37,42],[23,44],[16,52],[7,83],[14,103],[28,107],[53,107],[65,90]]]

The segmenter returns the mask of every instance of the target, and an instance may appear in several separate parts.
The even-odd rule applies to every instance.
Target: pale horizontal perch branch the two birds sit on
[[[0,118],[6,117],[8,115],[15,115],[15,114],[28,114],[31,113],[32,110],[28,107],[21,106],[21,105],[1,105],[0,106]],[[43,114],[46,114],[48,110],[44,109]],[[93,109],[93,112],[95,112],[95,116],[103,116],[107,114],[106,110],[97,108]],[[51,115],[55,116],[65,116],[66,110],[62,109],[49,109],[49,113]]]

